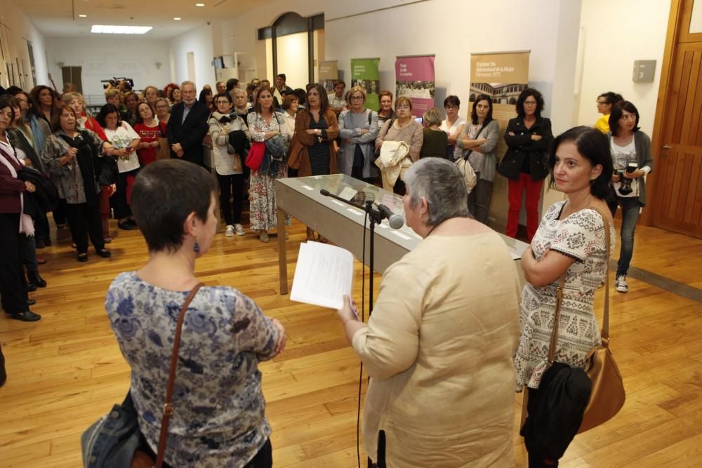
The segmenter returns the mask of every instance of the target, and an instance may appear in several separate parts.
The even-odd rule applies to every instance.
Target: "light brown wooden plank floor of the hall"
[[[119,272],[147,258],[138,232],[119,232],[112,258],[74,260],[67,229],[41,250],[48,288],[31,296],[43,318],[0,316],[8,382],[0,388],[0,467],[81,466],[81,432],[128,388],[129,370],[105,317],[105,291]],[[292,278],[305,228],[293,224]],[[615,254],[616,256],[616,254]],[[633,265],[702,288],[702,241],[637,227]],[[276,467],[355,467],[359,361],[336,314],[278,294],[277,243],[253,234],[216,236],[197,264],[208,285],[253,297],[289,333],[288,349],[263,363]],[[377,276],[376,276],[377,277]],[[377,287],[376,281],[376,287]],[[611,347],[625,377],[627,402],[613,420],[576,436],[562,467],[698,467],[702,465],[702,304],[635,279],[612,288]],[[357,263],[355,297],[360,297]],[[598,297],[602,304],[602,297]],[[515,395],[515,456],[521,396]],[[364,464],[365,453],[361,453]]]

